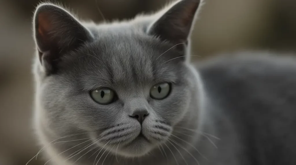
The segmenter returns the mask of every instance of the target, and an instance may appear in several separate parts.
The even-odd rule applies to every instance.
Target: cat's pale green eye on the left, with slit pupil
[[[108,88],[93,90],[90,95],[99,104],[109,104],[115,100],[115,92]]]

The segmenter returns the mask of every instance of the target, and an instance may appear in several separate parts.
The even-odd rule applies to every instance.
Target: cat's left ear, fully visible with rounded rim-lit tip
[[[41,4],[36,8],[33,31],[39,59],[47,73],[57,71],[63,54],[92,38],[75,17],[54,4]]]

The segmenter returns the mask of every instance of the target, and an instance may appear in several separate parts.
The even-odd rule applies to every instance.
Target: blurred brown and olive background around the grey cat
[[[57,1],[57,0],[55,0]],[[86,20],[132,18],[168,0],[57,1]],[[296,1],[205,0],[192,36],[203,60],[239,50],[296,51]],[[33,135],[31,31],[38,0],[0,0],[0,165],[25,165],[40,149]],[[43,165],[41,157],[29,165]]]

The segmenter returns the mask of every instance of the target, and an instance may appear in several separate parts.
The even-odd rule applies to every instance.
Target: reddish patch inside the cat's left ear
[[[41,36],[44,36],[50,30],[52,30],[52,25],[50,19],[48,18],[48,13],[38,14],[38,33]]]

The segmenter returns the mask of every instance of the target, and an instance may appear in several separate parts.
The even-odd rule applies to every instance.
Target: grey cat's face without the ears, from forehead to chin
[[[149,37],[102,37],[65,55],[60,73],[44,84],[42,104],[54,113],[52,122],[89,132],[118,153],[147,153],[167,140],[190,100],[184,63],[160,56],[172,46]]]

